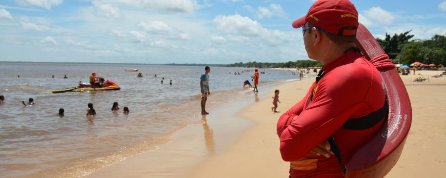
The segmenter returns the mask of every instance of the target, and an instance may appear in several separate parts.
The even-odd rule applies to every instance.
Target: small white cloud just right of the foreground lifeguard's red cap
[[[396,15],[381,7],[372,7],[359,16],[359,22],[365,26],[381,26],[392,24]]]

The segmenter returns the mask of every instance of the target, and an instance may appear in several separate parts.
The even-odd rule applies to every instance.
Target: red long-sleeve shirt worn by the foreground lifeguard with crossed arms
[[[376,133],[383,123],[381,121],[367,130],[341,129],[348,119],[366,116],[384,105],[381,75],[373,64],[357,52],[350,51],[325,65],[324,71],[326,74],[319,83],[314,83],[305,97],[284,113],[277,124],[280,154],[284,161],[316,160],[312,164],[296,164],[298,167],[316,164],[317,168],[290,169],[291,177],[342,177],[334,155],[325,158],[309,153],[310,150],[334,135],[345,164],[358,146]]]

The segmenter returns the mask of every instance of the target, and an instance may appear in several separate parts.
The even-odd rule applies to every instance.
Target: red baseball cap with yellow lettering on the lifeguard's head
[[[351,36],[356,34],[359,25],[358,11],[349,0],[318,0],[307,15],[293,22],[293,27],[300,28],[306,22],[335,35]]]

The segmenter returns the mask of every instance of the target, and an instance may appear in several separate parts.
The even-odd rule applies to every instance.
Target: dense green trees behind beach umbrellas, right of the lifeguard
[[[412,40],[410,31],[394,34],[386,39],[377,38],[378,43],[389,55],[393,63],[411,64],[416,61],[424,64],[446,64],[446,37],[435,35],[430,40]]]

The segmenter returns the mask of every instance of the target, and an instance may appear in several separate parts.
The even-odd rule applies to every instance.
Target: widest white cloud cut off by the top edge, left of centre
[[[197,8],[197,0],[101,0],[107,3],[123,3],[135,7],[167,12],[191,13]]]

